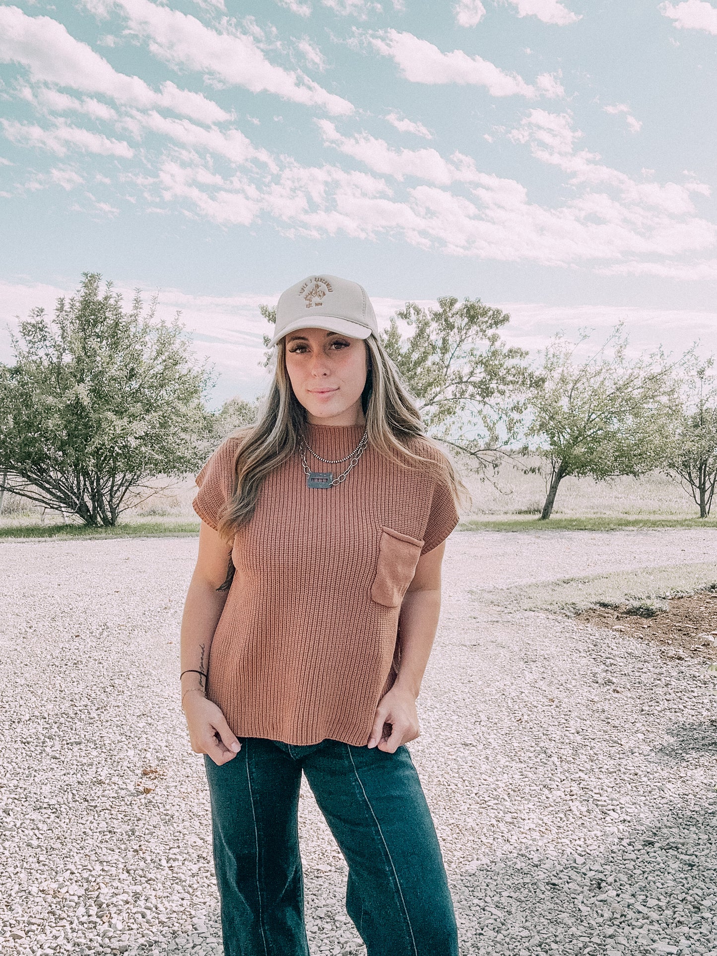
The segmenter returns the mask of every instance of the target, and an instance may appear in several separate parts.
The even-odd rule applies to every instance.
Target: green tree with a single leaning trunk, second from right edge
[[[533,388],[529,438],[550,467],[540,517],[550,518],[560,482],[590,475],[597,481],[640,475],[663,461],[664,434],[674,402],[674,364],[661,351],[629,359],[620,323],[587,359],[577,342],[557,335],[545,349]]]

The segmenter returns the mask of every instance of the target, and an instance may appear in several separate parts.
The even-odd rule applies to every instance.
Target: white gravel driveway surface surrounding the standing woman
[[[464,956],[717,956],[705,665],[480,594],[704,563],[716,545],[708,531],[449,540],[409,746]],[[0,954],[220,951],[206,781],[177,692],[195,551],[192,538],[0,544]],[[306,788],[301,829],[312,952],[363,952]]]

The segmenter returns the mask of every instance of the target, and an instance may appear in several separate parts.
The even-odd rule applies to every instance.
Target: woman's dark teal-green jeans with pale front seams
[[[226,956],[309,956],[302,771],[348,863],[346,910],[368,956],[457,956],[444,861],[406,747],[245,737],[233,760],[205,765]]]

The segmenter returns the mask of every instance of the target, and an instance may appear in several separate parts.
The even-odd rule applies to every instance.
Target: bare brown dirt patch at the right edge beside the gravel
[[[717,661],[717,591],[591,607],[576,620],[657,644],[668,656]]]

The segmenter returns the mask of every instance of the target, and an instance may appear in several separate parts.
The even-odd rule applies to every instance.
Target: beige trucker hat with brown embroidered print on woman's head
[[[279,296],[272,345],[296,329],[326,329],[353,338],[379,335],[363,286],[325,273],[309,275]]]

